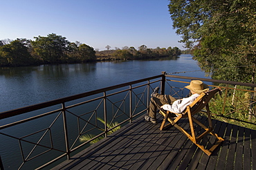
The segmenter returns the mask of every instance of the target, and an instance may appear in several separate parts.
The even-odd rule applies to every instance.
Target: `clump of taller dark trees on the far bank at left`
[[[0,41],[0,66],[28,66],[95,61],[95,50],[80,42],[71,43],[66,37],[47,37]]]

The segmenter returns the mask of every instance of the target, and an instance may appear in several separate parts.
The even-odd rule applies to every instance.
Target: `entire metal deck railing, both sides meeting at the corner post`
[[[256,91],[251,89],[256,87],[255,84],[163,72],[154,77],[0,113],[0,167],[42,169],[69,159],[93,140],[107,137],[117,126],[147,113],[150,94],[156,86],[161,86],[162,94],[181,98],[188,95],[188,89],[183,87],[192,79],[200,79],[210,88],[221,87],[222,97],[216,96],[210,102],[214,116],[233,120],[239,120],[239,116],[250,117],[248,121],[240,119],[240,122],[255,125]],[[103,124],[98,117],[104,120]],[[113,122],[118,123],[109,126]],[[91,139],[80,142],[81,136],[89,134]]]

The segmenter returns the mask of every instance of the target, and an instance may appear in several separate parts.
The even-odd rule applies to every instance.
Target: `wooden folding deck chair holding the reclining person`
[[[208,102],[215,95],[215,93],[217,93],[220,90],[221,90],[220,88],[214,88],[211,91],[201,93],[201,95],[199,95],[199,97],[197,97],[196,100],[194,100],[194,102],[192,102],[192,104],[187,106],[187,108],[185,109],[185,111],[183,111],[183,113],[181,113],[181,114],[174,113],[177,115],[176,117],[170,116],[171,114],[173,115],[172,112],[164,111],[163,109],[161,109],[159,111],[159,113],[161,113],[164,116],[164,119],[161,124],[160,130],[162,131],[165,127],[173,125],[177,129],[179,129],[179,131],[181,131],[186,136],[188,136],[188,138],[192,142],[194,142],[194,144],[196,144],[196,146],[199,147],[203,152],[205,152],[207,155],[211,155],[212,151],[214,151],[214,149],[216,149],[219,146],[219,144],[221,144],[221,142],[223,142],[223,138],[219,137],[216,133],[213,132],[212,119],[210,116],[210,109],[209,109]],[[194,114],[199,113],[199,111],[201,111],[204,107],[206,107],[206,111],[207,111],[207,115],[208,115],[208,123],[209,123],[208,127],[193,117]],[[185,131],[181,126],[178,125],[179,120],[181,120],[181,118],[185,118],[185,117],[188,117],[188,120],[190,122],[191,134],[188,133],[187,131]],[[166,121],[170,122],[170,124],[165,125]],[[201,126],[203,129],[205,129],[205,132],[203,132],[198,137],[196,137],[196,135],[195,135],[193,122],[195,122],[196,124],[199,124],[199,126]],[[209,133],[210,133],[210,135],[213,135],[215,138],[217,138],[217,141],[213,144],[213,146],[210,149],[205,149],[205,146],[199,144],[199,142],[201,141],[203,136],[208,135]]]

